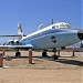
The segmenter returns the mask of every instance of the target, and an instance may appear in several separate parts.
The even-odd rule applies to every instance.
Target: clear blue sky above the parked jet
[[[64,21],[82,29],[83,0],[0,0],[0,34],[17,34],[21,22],[23,32],[29,34],[54,22]]]

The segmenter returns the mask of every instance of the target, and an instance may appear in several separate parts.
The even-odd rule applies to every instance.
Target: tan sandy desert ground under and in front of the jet
[[[14,52],[6,52],[3,68],[0,68],[0,83],[83,83],[83,52],[61,52],[59,60],[42,58],[33,51],[32,64],[29,64],[28,51],[21,51],[21,58]],[[7,56],[12,60],[7,61]]]

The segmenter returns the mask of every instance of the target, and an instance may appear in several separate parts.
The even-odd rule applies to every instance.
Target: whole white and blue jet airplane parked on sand
[[[33,50],[62,49],[83,41],[83,30],[72,29],[72,27],[65,22],[56,22],[46,28],[40,28],[29,35],[24,35],[21,23],[18,23],[18,35],[1,37],[18,37],[19,40],[9,40],[3,45],[0,45],[0,48],[31,48]]]

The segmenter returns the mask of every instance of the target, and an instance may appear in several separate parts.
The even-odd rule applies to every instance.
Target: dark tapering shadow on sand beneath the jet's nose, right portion
[[[64,64],[72,64],[72,65],[83,66],[83,62],[82,61],[77,61],[77,60],[69,60],[69,59],[54,60],[54,59],[52,59],[52,56],[40,58],[40,59],[54,61],[54,62],[60,62],[60,63],[64,63]]]

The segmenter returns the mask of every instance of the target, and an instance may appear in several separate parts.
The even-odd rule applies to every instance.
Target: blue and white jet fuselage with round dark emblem
[[[23,45],[32,44],[33,49],[52,49],[72,45],[81,41],[79,38],[79,30],[70,29],[66,23],[63,25],[66,25],[66,28],[56,28],[56,24],[52,24],[48,28],[41,29],[23,37],[20,40],[20,43]]]

